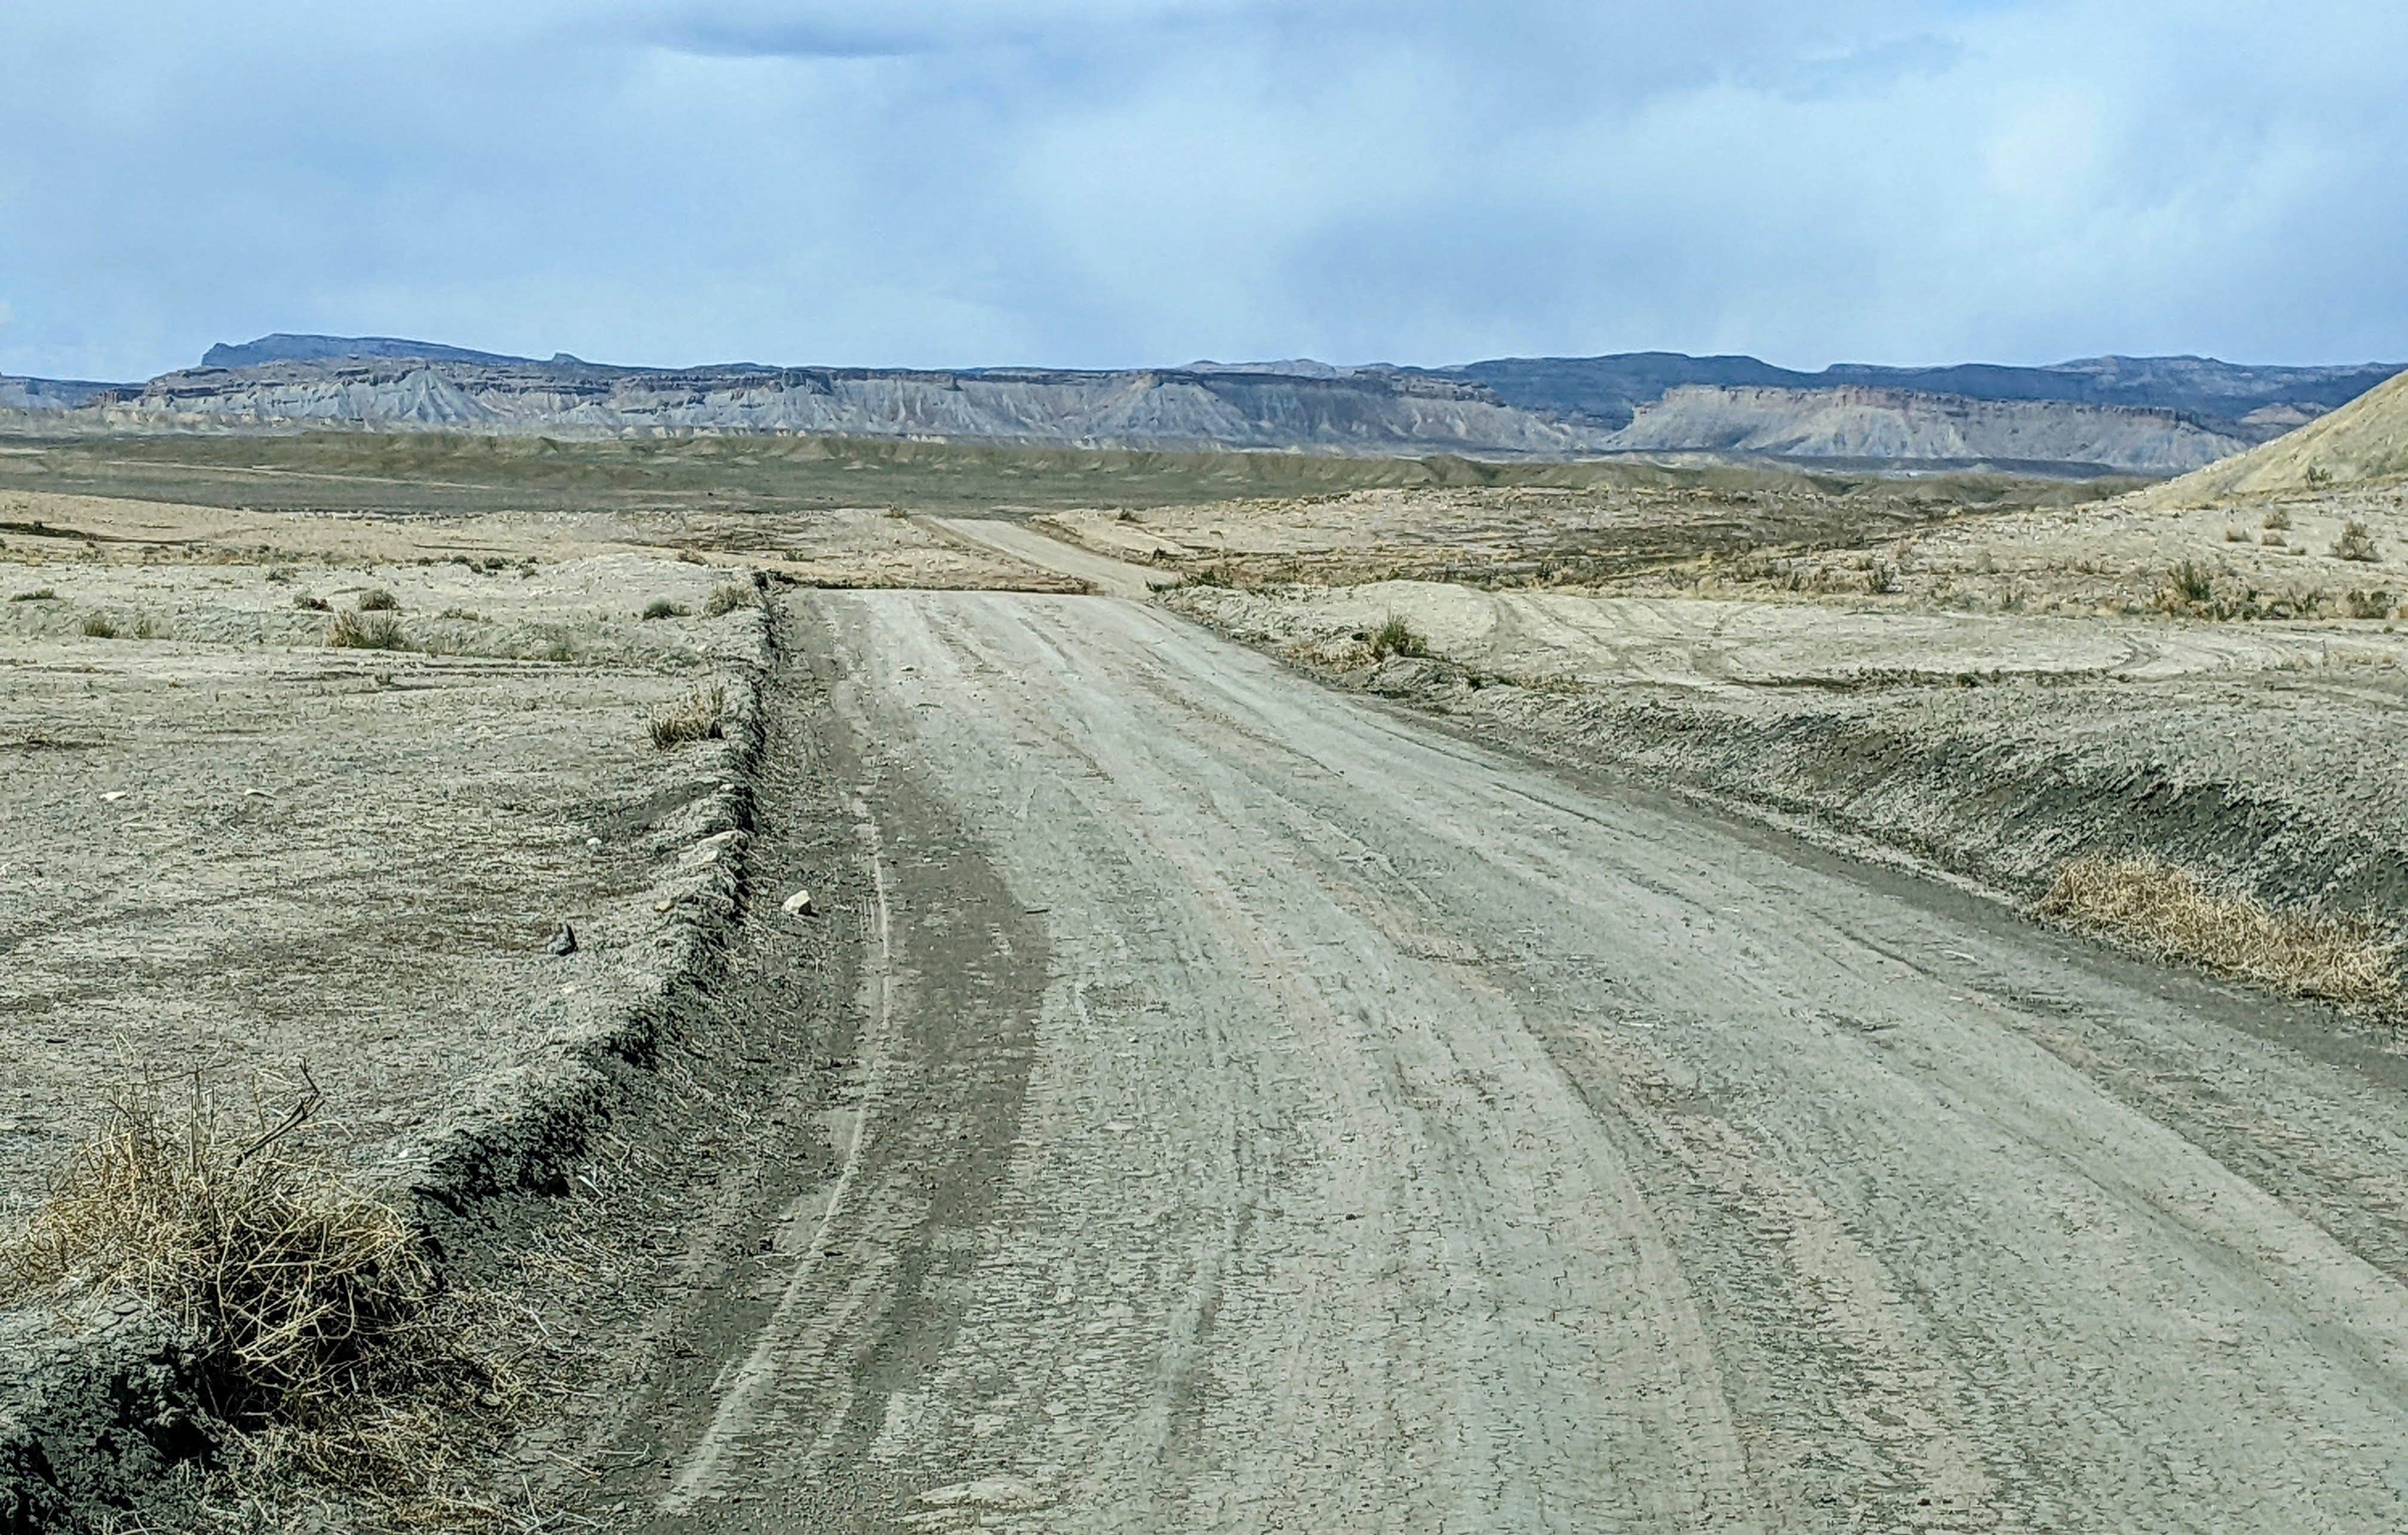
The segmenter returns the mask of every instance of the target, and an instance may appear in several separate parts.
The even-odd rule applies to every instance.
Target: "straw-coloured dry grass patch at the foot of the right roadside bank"
[[[2379,925],[2278,911],[2146,853],[2068,860],[2035,911],[2302,998],[2360,1007],[2401,998],[2398,942]]]

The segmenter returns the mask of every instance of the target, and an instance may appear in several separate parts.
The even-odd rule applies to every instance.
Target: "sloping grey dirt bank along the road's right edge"
[[[1163,602],[1324,682],[1476,723],[1483,740],[1541,761],[1633,776],[2011,906],[2071,858],[2153,853],[2271,906],[2408,923],[2408,827],[2336,819],[2278,781],[2201,771],[2146,742],[2102,754],[2035,730],[1902,730],[1806,692],[1522,687],[1442,655],[1332,665],[1218,622],[1209,588]]]

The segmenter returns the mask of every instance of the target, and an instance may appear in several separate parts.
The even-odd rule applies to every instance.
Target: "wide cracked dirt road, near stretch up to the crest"
[[[2333,1019],[1134,602],[797,617],[852,1089],[631,1410],[653,1528],[2408,1528]]]

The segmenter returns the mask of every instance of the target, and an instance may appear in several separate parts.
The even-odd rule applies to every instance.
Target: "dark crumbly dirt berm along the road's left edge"
[[[744,853],[763,747],[763,692],[783,636],[768,578],[727,614],[720,740],[703,747],[694,795],[650,839],[655,882],[636,901],[660,921],[631,954],[628,1000],[549,1034],[470,1104],[368,1169],[421,1229],[458,1243],[462,1217],[501,1193],[554,1193],[590,1140],[641,1092],[681,998],[725,964],[746,896]],[[193,1494],[209,1439],[183,1340],[132,1296],[0,1308],[0,1535],[92,1528],[106,1508]]]

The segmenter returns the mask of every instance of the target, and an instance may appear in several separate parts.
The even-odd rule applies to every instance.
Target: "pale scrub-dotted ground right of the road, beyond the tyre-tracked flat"
[[[2028,487],[2018,494],[2032,494]],[[2276,523],[2276,525],[2268,525]],[[2374,559],[2341,559],[2360,523]],[[2372,619],[2408,605],[2408,489],[2223,506],[1984,508],[1941,487],[1471,489],[1038,518],[1156,574],[1245,588],[1479,588],[1864,602],[2066,617]],[[2191,590],[2177,581],[2189,566]]]

